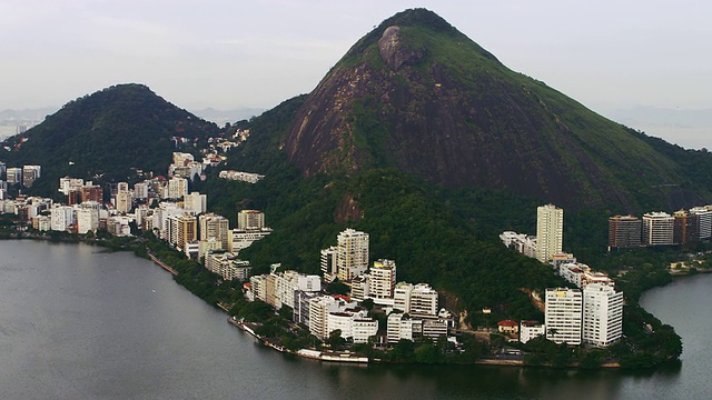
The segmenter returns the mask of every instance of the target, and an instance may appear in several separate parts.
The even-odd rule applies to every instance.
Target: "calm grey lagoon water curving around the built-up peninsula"
[[[710,288],[644,297],[684,342],[654,372],[358,367],[265,349],[130,253],[0,241],[0,399],[710,399]]]

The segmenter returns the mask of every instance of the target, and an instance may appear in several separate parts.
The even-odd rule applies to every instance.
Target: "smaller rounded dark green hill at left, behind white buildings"
[[[162,173],[179,146],[172,138],[196,139],[218,131],[164,100],[142,84],[118,84],[65,104],[23,134],[3,142],[8,166],[40,164],[36,190],[49,196],[66,174],[123,181],[136,169]]]

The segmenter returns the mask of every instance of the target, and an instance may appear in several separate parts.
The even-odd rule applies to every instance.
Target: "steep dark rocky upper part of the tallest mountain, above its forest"
[[[309,94],[284,144],[306,177],[394,167],[574,209],[674,208],[710,194],[625,127],[510,70],[424,9],[360,39]]]

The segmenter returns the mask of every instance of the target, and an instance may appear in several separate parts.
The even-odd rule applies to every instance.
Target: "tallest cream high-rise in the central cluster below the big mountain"
[[[346,229],[337,237],[336,250],[337,274],[342,282],[368,269],[368,233]]]

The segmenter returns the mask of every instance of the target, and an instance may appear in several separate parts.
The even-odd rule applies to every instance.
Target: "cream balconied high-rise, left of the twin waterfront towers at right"
[[[546,289],[546,339],[558,344],[581,344],[582,311],[581,289]]]

